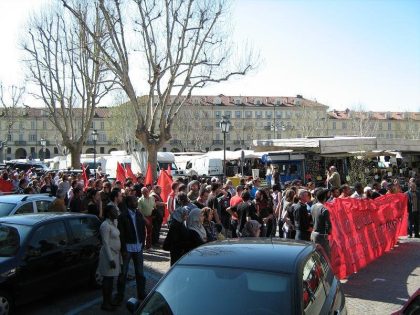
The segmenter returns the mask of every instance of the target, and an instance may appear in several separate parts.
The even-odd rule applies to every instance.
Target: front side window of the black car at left
[[[68,243],[64,222],[54,222],[39,227],[29,241],[28,251],[45,253]]]

